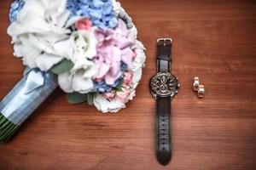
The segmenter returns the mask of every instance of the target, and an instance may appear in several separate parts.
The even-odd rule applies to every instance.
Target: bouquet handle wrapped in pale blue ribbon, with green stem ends
[[[0,141],[9,139],[57,86],[54,74],[26,68],[24,77],[0,102]]]

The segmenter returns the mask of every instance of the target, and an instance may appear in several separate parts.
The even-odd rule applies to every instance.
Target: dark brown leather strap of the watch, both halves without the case
[[[171,71],[172,39],[160,39],[157,43],[157,71]],[[171,96],[156,99],[156,156],[162,165],[171,161]]]

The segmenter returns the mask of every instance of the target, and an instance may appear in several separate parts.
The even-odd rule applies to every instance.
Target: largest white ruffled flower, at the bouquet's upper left
[[[8,28],[15,56],[22,57],[24,65],[48,71],[65,56],[63,41],[71,33],[67,0],[26,0],[15,20]]]

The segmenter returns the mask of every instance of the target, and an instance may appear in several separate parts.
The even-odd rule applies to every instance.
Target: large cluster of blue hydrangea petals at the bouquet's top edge
[[[90,18],[93,25],[101,30],[115,28],[118,25],[112,0],[68,0],[67,9],[71,11],[72,16]]]

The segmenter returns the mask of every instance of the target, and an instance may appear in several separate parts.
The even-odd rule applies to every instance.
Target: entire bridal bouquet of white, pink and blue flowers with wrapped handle
[[[135,96],[145,54],[131,17],[115,0],[15,0],[8,34],[24,77],[0,103],[7,141],[60,87],[71,104],[117,112]],[[85,112],[85,111],[84,111]]]

